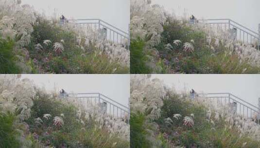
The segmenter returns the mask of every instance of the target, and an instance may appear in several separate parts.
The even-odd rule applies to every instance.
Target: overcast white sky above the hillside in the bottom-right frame
[[[258,105],[260,74],[154,74],[176,91],[194,89],[196,92],[230,92],[243,100]]]

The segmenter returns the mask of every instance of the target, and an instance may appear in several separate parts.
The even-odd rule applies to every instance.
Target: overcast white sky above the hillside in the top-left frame
[[[68,19],[102,19],[128,32],[130,0],[22,0],[39,12],[52,16],[56,11]]]

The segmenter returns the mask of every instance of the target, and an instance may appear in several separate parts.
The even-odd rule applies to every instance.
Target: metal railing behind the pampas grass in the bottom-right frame
[[[212,102],[216,105],[231,105],[236,103],[237,114],[243,115],[245,118],[253,118],[254,115],[257,115],[257,118],[260,115],[260,108],[244,101],[243,99],[231,94],[231,93],[198,93],[199,96],[203,96],[209,99],[212,99]],[[259,119],[257,119],[259,124]]]

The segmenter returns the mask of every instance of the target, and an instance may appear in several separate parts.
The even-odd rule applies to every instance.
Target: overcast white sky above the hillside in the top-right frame
[[[184,10],[198,19],[232,19],[258,32],[260,0],[152,0],[177,16]]]

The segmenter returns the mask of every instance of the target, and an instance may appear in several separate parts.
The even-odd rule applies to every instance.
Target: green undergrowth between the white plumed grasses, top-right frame
[[[185,74],[257,74],[260,72],[259,67],[241,61],[238,55],[229,55],[224,44],[220,43],[217,51],[209,50],[207,33],[194,30],[192,26],[185,25],[187,23],[170,18],[163,25],[161,42],[156,49],[159,58],[165,61],[164,72]],[[182,43],[176,46],[174,40],[180,40]],[[193,51],[187,52],[182,49],[186,42],[192,42]],[[165,48],[164,45],[168,43],[173,48]]]

